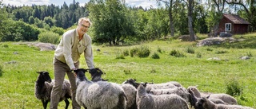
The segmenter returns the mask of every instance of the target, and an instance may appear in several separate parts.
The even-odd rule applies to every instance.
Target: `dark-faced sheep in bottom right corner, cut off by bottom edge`
[[[205,97],[199,99],[196,105],[201,105],[204,109],[253,109],[251,107],[243,107],[241,105],[215,104]]]

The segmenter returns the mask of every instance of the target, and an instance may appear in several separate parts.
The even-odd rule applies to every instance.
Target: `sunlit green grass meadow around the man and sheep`
[[[94,45],[94,64],[106,72],[102,78],[118,84],[130,78],[138,82],[178,81],[186,88],[198,85],[200,91],[226,93],[228,84],[237,82],[234,86],[242,89],[241,95],[234,95],[238,103],[256,108],[256,34],[243,37],[246,41],[204,47],[196,47],[196,42],[175,39],[115,47]],[[150,49],[150,56],[157,53],[160,59],[150,56],[123,56],[124,59],[116,59],[123,52],[142,45]],[[194,53],[187,53],[188,49],[194,50]],[[170,56],[174,50],[186,57]],[[239,59],[247,55],[250,55],[250,60]],[[42,108],[41,101],[34,96],[34,83],[38,76],[36,72],[48,71],[54,79],[53,56],[54,51],[39,51],[27,45],[16,45],[16,42],[0,43],[2,109]],[[212,57],[221,60],[207,60]],[[80,62],[80,68],[87,68],[83,56]],[[88,74],[86,76],[90,79]],[[59,103],[59,107],[64,108],[64,102]]]

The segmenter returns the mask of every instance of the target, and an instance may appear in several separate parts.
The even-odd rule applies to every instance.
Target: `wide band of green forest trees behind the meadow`
[[[237,14],[256,29],[254,0],[156,0],[158,7],[143,9],[121,0],[90,0],[48,6],[10,6],[0,2],[0,41],[45,41],[58,44],[62,33],[76,28],[78,18],[93,22],[95,44],[123,45],[162,37],[214,33],[222,14]]]

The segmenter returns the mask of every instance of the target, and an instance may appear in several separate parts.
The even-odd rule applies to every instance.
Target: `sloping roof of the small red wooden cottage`
[[[250,22],[246,21],[245,19],[239,17],[238,15],[233,14],[223,14],[223,17],[229,19],[234,24],[250,24]]]

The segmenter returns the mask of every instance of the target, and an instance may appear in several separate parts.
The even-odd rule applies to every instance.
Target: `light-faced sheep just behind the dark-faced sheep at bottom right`
[[[222,99],[224,103],[228,104],[238,104],[237,100],[228,94],[220,93],[220,94],[205,94],[200,91],[198,91],[198,88],[196,87],[189,87],[191,91],[194,92],[194,95],[198,98],[207,97],[208,99]],[[210,95],[210,96],[209,96]]]

